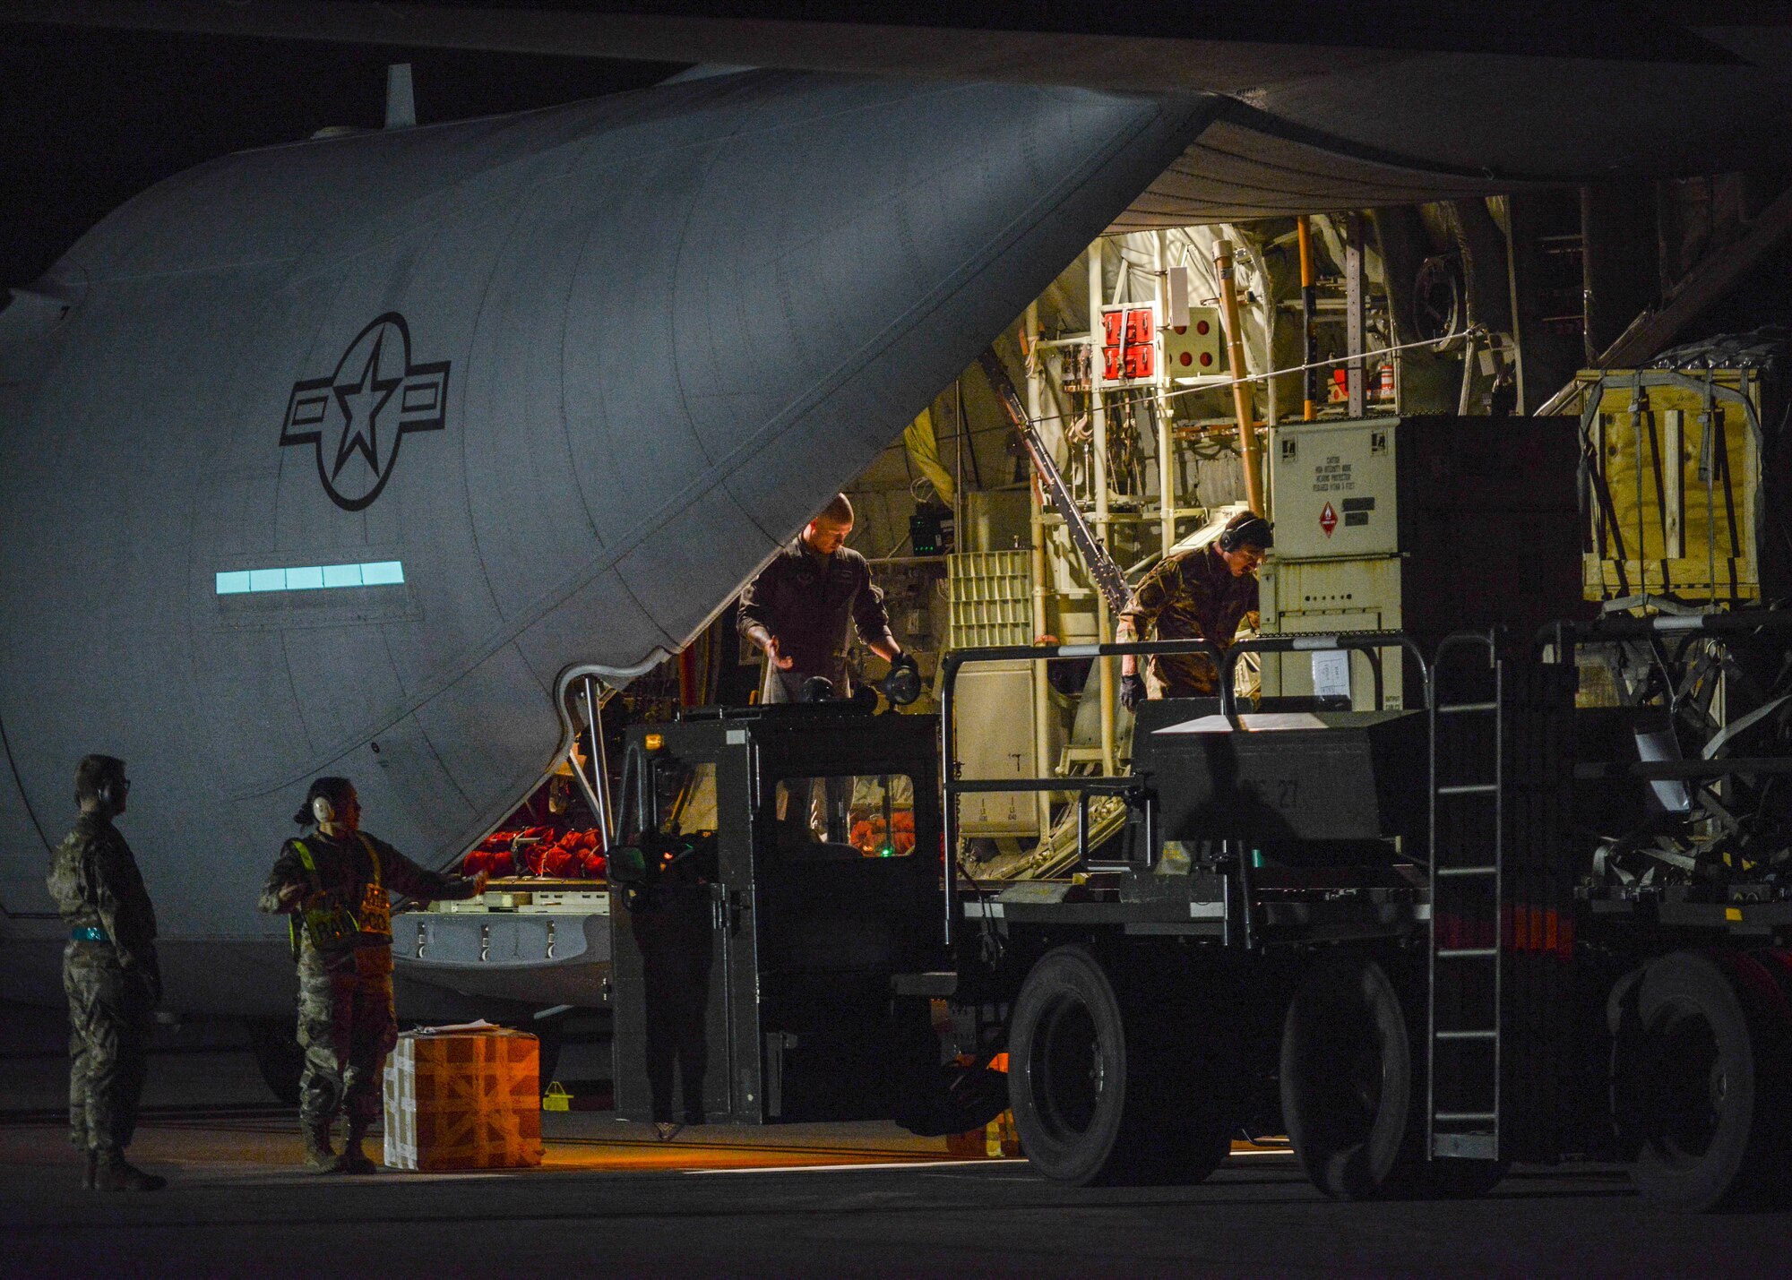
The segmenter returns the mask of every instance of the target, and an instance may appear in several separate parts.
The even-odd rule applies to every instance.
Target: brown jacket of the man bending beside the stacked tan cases
[[[1170,556],[1145,574],[1120,611],[1131,618],[1140,640],[1211,640],[1226,649],[1240,624],[1256,624],[1256,575],[1233,577],[1213,543]],[[1158,635],[1150,636],[1156,626]],[[1150,660],[1150,674],[1165,697],[1213,696],[1219,672],[1206,654],[1172,654]]]

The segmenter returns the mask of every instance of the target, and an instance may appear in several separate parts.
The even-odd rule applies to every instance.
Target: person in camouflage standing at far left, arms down
[[[50,896],[68,921],[68,1138],[86,1155],[90,1190],[158,1190],[167,1180],[125,1163],[143,1094],[149,1034],[161,1000],[156,909],[113,817],[131,782],[124,760],[84,757],[81,817],[50,862]]]

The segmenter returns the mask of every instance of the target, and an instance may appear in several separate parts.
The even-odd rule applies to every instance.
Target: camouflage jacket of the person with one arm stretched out
[[[375,882],[373,859],[367,857],[367,846],[362,844],[362,837],[357,834],[335,839],[323,832],[310,832],[301,839],[317,868],[315,882],[299,859],[297,839],[287,841],[280,846],[280,857],[274,859],[274,869],[267,873],[267,884],[262,886],[262,898],[256,905],[272,914],[292,914],[301,909],[305,898],[323,889],[332,900],[360,914],[362,904],[367,898],[367,887]],[[473,880],[443,875],[441,871],[426,871],[378,835],[367,835],[367,841],[380,859],[378,884],[389,898],[434,902],[437,898],[473,896]],[[287,891],[292,887],[299,891],[287,896]],[[319,952],[301,929],[299,968],[328,973],[367,972],[367,959],[357,963],[355,952],[380,948],[385,952],[389,964],[391,941],[392,936],[389,932],[364,932],[355,947],[348,950]]]

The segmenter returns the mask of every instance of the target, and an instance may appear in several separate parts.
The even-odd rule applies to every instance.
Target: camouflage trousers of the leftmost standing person
[[[136,1131],[154,1000],[111,943],[68,943],[68,1140],[77,1151],[122,1151]]]

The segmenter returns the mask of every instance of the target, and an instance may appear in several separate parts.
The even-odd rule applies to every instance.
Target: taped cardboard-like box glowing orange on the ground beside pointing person
[[[541,1163],[539,1043],[521,1031],[405,1033],[385,1063],[385,1163]]]

